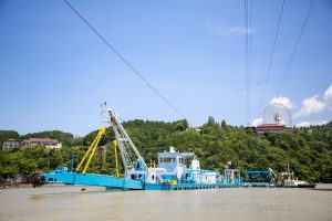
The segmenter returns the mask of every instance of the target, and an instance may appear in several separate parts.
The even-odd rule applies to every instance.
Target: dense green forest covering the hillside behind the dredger
[[[246,127],[234,127],[212,117],[201,130],[189,128],[186,120],[173,123],[129,120],[123,123],[132,140],[147,162],[157,161],[157,152],[174,146],[179,151],[195,152],[201,168],[224,171],[231,161],[234,168],[286,171],[289,165],[295,177],[314,182],[332,182],[332,122],[323,126],[294,128],[292,135],[264,133],[257,137]],[[74,167],[80,162],[97,130],[85,137],[70,133],[43,131],[20,136],[17,131],[0,130],[0,144],[8,138],[56,138],[61,149],[17,147],[0,151],[0,176],[30,175],[35,170],[50,171],[58,166]],[[89,172],[115,175],[114,134],[111,127],[103,135]],[[120,156],[118,156],[120,157]]]

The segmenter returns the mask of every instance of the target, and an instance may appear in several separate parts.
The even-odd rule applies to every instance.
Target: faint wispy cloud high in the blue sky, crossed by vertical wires
[[[205,22],[211,33],[220,34],[221,36],[237,36],[246,34],[245,27],[219,27],[211,22]],[[255,29],[248,29],[248,33],[251,34]]]

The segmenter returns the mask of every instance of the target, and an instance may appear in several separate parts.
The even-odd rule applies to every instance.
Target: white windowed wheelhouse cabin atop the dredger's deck
[[[180,180],[187,169],[187,158],[194,157],[194,152],[177,152],[169,147],[168,152],[158,152],[158,167],[164,168],[167,175],[176,176]]]

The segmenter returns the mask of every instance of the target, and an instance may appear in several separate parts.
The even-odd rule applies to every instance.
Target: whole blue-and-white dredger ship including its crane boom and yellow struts
[[[106,189],[123,190],[187,190],[241,186],[238,169],[226,169],[224,173],[204,170],[194,152],[179,152],[174,147],[169,147],[169,151],[158,152],[157,167],[148,167],[115,112],[108,109],[107,113],[116,138],[113,141],[115,157],[118,148],[124,177],[118,176],[117,159],[116,176],[86,172],[97,144],[105,133],[105,127],[101,127],[77,168],[69,171],[66,167],[59,167],[52,172],[42,173],[44,183],[103,186]]]

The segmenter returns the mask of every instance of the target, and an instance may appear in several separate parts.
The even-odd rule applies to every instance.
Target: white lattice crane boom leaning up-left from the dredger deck
[[[138,159],[144,168],[147,168],[143,157],[138,152],[131,137],[122,126],[114,109],[108,109],[110,123],[117,140],[121,158],[124,165],[125,177],[128,177],[131,169],[134,168],[135,161]],[[135,158],[134,158],[135,157]]]

